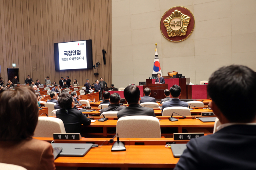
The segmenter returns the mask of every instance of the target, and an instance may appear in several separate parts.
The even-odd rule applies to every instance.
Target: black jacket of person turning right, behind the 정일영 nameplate
[[[91,124],[91,120],[82,111],[72,108],[56,111],[56,117],[63,121],[66,133],[80,133],[82,124]]]

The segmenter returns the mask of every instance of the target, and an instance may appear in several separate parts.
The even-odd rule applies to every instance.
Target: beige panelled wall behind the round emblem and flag
[[[159,26],[174,6],[195,17],[194,32],[179,43],[166,40]],[[164,76],[178,71],[199,84],[224,65],[256,71],[255,9],[256,0],[112,0],[112,83],[126,87],[150,77],[155,43]]]

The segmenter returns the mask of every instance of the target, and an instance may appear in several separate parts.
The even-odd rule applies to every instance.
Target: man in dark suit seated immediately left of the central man
[[[110,105],[108,107],[101,109],[100,113],[103,113],[105,111],[119,111],[122,110],[124,107],[120,106],[120,100],[121,97],[118,93],[113,93],[109,97]]]

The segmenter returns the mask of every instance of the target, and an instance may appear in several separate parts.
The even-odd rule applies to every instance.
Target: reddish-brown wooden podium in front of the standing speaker
[[[168,84],[148,84],[148,88],[151,90],[150,97],[161,100],[165,98],[164,90],[168,89]]]

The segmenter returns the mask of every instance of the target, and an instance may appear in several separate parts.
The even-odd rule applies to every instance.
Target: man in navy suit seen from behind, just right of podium
[[[170,93],[171,93],[172,100],[168,101],[168,102],[165,102],[162,105],[162,113],[163,113],[164,108],[166,108],[166,107],[172,107],[172,106],[188,107],[188,103],[187,102],[180,101],[180,99],[179,99],[179,97],[181,95],[181,88],[180,88],[180,86],[174,84],[170,88]]]

